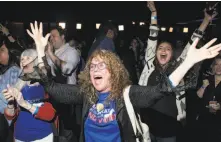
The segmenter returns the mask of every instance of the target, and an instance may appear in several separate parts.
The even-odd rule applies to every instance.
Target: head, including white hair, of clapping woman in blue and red
[[[37,51],[35,49],[27,49],[22,52],[20,59],[20,67],[24,74],[34,72],[34,66],[37,65]]]

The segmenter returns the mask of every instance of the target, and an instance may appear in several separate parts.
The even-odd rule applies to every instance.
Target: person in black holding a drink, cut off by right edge
[[[212,63],[213,75],[209,75],[200,82],[197,91],[201,99],[198,116],[201,142],[220,142],[221,136],[221,57]]]

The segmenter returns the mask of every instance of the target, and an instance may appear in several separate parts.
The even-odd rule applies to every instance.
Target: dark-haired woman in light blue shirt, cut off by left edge
[[[19,57],[22,51],[16,41],[11,42],[5,36],[0,37],[0,141],[6,141],[8,126],[11,123],[11,121],[7,123],[4,117],[7,101],[1,92],[7,84],[13,85],[17,82],[20,72]]]

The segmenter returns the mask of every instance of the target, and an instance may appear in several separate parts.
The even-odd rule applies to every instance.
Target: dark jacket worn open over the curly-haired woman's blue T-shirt
[[[51,81],[46,75],[42,76],[41,84],[45,87],[48,94],[56,101],[65,104],[83,105],[82,125],[80,142],[84,142],[84,123],[88,116],[88,111],[92,107],[85,95],[80,92],[79,86],[69,84],[59,84]],[[131,86],[129,97],[134,108],[146,108],[163,97],[161,91],[167,91],[165,85],[148,86]],[[135,142],[135,134],[125,108],[123,95],[116,100],[117,122],[121,132],[123,142]]]

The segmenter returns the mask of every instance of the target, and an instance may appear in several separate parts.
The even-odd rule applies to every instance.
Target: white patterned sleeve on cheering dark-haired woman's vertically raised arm
[[[147,48],[145,52],[145,61],[149,63],[154,60],[157,47],[159,28],[156,25],[150,25],[150,35],[147,40]]]

